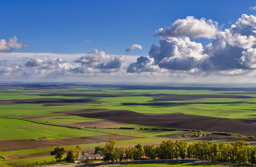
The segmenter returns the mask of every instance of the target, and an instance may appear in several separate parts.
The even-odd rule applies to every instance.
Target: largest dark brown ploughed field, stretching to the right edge
[[[137,125],[231,132],[246,135],[256,134],[256,125],[252,123],[254,119],[228,119],[210,116],[184,115],[181,113],[141,114],[133,111],[107,109],[84,109],[80,111],[65,111],[62,113]]]

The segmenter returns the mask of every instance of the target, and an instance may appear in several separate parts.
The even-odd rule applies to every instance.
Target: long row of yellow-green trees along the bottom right
[[[193,143],[184,141],[163,141],[159,146],[140,144],[135,147],[117,148],[116,141],[109,140],[105,147],[96,147],[95,154],[102,154],[104,161],[123,159],[198,159],[216,163],[256,164],[256,146],[245,141],[236,143]]]

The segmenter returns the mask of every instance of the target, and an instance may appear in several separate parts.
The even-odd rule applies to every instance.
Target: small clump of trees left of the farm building
[[[63,155],[66,153],[64,147],[56,147],[51,151],[51,155],[55,155],[56,161],[61,161]],[[76,151],[68,150],[67,157],[65,157],[64,161],[67,163],[74,163],[77,157],[81,156],[81,147],[79,145],[76,146]]]

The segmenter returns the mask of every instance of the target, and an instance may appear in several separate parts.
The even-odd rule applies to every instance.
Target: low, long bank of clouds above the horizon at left
[[[124,56],[112,56],[95,49],[81,56],[74,64],[61,58],[22,58],[19,63],[0,61],[3,76],[74,76],[74,74],[97,74],[116,72],[122,66]]]

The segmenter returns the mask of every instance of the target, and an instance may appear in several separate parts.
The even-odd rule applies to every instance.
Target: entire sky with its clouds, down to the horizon
[[[0,82],[255,83],[255,1],[0,1]]]

